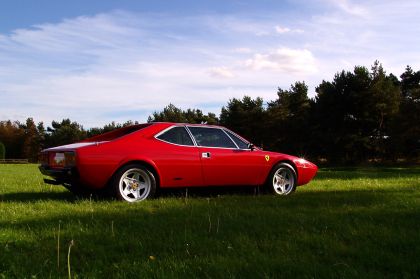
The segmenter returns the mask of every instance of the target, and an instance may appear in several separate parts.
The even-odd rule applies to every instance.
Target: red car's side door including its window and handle
[[[238,148],[228,133],[218,127],[188,126],[201,158],[205,185],[255,185],[264,156]]]

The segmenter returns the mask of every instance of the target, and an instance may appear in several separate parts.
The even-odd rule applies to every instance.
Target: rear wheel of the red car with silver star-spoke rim
[[[156,179],[152,172],[138,164],[120,168],[111,182],[111,191],[118,200],[139,202],[156,193]]]

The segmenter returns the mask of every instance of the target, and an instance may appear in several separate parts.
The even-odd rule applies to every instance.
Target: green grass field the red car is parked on
[[[290,197],[75,199],[0,165],[0,278],[420,278],[420,168],[321,169]]]

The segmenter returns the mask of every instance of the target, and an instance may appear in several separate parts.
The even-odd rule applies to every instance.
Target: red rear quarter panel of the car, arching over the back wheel
[[[78,150],[81,180],[91,188],[102,188],[123,165],[142,161],[154,168],[161,187],[203,185],[196,147],[172,145],[154,138],[166,127],[81,148]]]

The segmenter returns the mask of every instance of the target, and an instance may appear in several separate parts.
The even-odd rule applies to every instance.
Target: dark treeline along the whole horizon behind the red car
[[[370,69],[356,66],[353,71],[338,72],[332,81],[322,81],[313,99],[305,82],[296,82],[289,89],[279,88],[273,101],[233,98],[218,117],[169,104],[149,116],[148,122],[153,121],[220,124],[264,149],[316,162],[416,163],[420,158],[420,71],[407,66],[397,78],[376,61]],[[48,128],[32,118],[26,123],[2,121],[0,142],[7,158],[36,161],[42,148],[134,123],[85,130],[69,119],[53,121]]]

